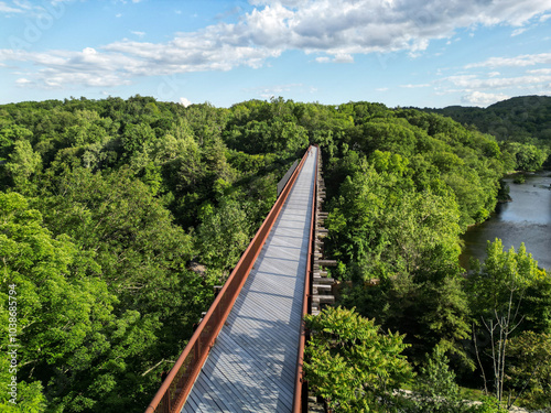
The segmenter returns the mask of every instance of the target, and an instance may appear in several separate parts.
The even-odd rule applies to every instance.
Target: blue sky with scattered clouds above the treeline
[[[551,0],[0,0],[0,104],[551,95]]]

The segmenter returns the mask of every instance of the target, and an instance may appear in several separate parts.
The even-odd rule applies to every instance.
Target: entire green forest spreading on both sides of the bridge
[[[444,115],[139,95],[0,106],[0,317],[15,296],[20,345],[18,405],[3,387],[2,411],[142,412],[309,144],[341,287],[306,320],[328,332],[307,348],[312,391],[335,412],[549,407],[549,274],[499,240],[468,274],[458,264],[461,235],[507,196],[501,177],[544,164],[549,128],[504,135]]]

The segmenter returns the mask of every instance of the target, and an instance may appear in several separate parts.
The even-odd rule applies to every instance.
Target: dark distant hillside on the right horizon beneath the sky
[[[450,106],[424,111],[451,117],[465,126],[474,124],[480,132],[498,140],[538,138],[551,142],[551,97],[521,96],[494,104],[486,109]]]

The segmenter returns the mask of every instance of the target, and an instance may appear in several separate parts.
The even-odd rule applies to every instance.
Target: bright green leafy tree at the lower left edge
[[[43,411],[41,388],[52,398],[57,385],[90,367],[83,359],[86,351],[95,358],[105,346],[104,328],[114,320],[116,298],[107,291],[94,254],[79,250],[66,236],[53,238],[23,196],[0,193],[0,233],[2,319],[8,313],[8,285],[15,286],[18,298],[18,379],[24,378],[20,406]],[[7,344],[3,335],[2,351]]]

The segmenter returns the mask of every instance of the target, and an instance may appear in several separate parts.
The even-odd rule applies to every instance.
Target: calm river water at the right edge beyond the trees
[[[468,258],[485,258],[486,242],[500,238],[504,248],[518,247],[525,242],[527,251],[551,272],[551,172],[527,174],[526,183],[509,184],[512,202],[498,204],[495,214],[477,226],[471,227],[463,240],[465,248],[460,261],[468,267]]]

